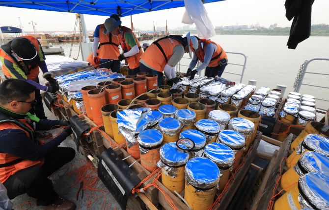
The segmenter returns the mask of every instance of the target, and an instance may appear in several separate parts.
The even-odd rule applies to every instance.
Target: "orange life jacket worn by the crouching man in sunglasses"
[[[20,129],[23,130],[27,137],[40,145],[44,144],[38,141],[34,134],[34,129],[29,125],[29,119],[14,119],[3,113],[0,113],[0,130],[5,129]],[[15,138],[14,136],[12,138]],[[17,171],[30,166],[42,166],[45,163],[45,158],[38,161],[24,160],[10,154],[0,153],[0,182],[4,183],[10,176]]]

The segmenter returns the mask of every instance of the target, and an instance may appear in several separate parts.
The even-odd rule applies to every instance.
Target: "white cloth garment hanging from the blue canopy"
[[[213,24],[211,23],[206,8],[201,0],[184,0],[186,11],[183,15],[182,23],[195,23],[199,38],[209,39],[216,35]]]

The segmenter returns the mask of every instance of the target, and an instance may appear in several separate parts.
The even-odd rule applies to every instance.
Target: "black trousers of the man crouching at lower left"
[[[31,166],[16,172],[3,183],[8,191],[9,199],[27,193],[28,196],[36,199],[38,206],[53,204],[58,195],[48,177],[72,161],[75,153],[75,150],[70,147],[57,147],[46,155],[42,166]]]

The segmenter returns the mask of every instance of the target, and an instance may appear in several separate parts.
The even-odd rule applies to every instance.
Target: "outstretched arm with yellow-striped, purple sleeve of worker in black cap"
[[[27,79],[27,76],[25,75],[24,71],[21,70],[15,63],[13,63],[7,59],[1,59],[1,61],[2,61],[2,64],[5,66],[5,68],[8,70],[8,72],[14,79],[20,79],[20,80],[27,81],[31,85],[34,85],[36,87],[36,89],[41,90],[41,91],[48,90],[48,87],[40,85],[37,82],[34,82],[30,79]]]

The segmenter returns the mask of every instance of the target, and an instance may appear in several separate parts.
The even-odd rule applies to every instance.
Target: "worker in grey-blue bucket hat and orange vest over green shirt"
[[[106,27],[105,34],[111,33],[120,37],[123,53],[119,55],[118,60],[121,62],[127,59],[129,65],[128,74],[136,75],[139,73],[139,60],[143,54],[143,50],[133,31],[130,28],[122,26],[117,15],[111,15],[111,18],[107,19],[104,25]]]

